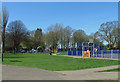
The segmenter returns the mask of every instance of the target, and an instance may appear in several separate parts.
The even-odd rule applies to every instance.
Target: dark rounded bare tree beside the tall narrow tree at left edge
[[[20,20],[13,21],[8,25],[8,33],[10,34],[11,41],[14,49],[14,53],[18,49],[20,43],[25,40],[27,30],[25,25]]]

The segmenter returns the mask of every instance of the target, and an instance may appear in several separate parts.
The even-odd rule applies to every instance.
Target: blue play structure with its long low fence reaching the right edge
[[[95,50],[97,49],[97,50]],[[68,51],[69,56],[82,56],[82,51],[90,51],[92,57],[99,58],[112,58],[118,59],[120,55],[120,50],[105,50],[104,46],[100,46],[99,43],[77,43],[77,47],[73,47],[71,51]]]

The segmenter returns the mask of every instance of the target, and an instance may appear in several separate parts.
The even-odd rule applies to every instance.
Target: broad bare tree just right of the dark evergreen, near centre
[[[62,24],[51,25],[47,29],[45,44],[57,49],[62,34]]]

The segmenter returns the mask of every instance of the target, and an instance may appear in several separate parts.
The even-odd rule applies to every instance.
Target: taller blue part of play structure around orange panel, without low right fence
[[[82,56],[84,57],[86,54],[86,51],[89,50],[89,55],[94,56],[94,48],[100,49],[99,43],[92,43],[92,42],[78,42],[77,47],[73,47],[71,51],[68,51],[68,55],[71,56]],[[88,56],[88,57],[90,57]]]

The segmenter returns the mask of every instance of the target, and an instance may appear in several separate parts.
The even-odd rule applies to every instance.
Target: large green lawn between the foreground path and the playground
[[[52,71],[80,70],[118,65],[118,60],[72,58],[49,54],[4,54],[3,64],[40,68]]]

